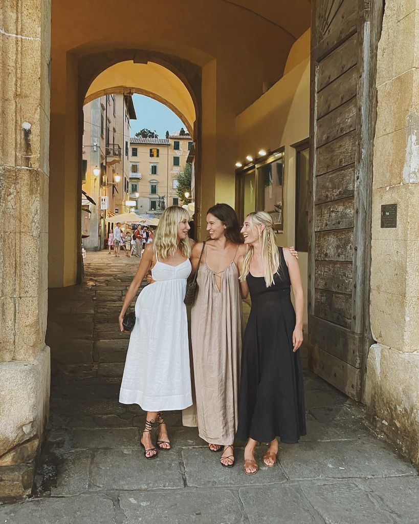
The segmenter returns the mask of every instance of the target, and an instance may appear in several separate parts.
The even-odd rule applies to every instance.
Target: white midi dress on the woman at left
[[[119,401],[144,411],[185,409],[192,404],[188,322],[183,302],[189,259],[177,266],[157,260],[135,302],[135,322]],[[140,319],[140,322],[138,322]]]

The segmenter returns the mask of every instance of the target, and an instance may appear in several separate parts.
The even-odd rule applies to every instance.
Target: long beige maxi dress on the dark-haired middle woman
[[[239,271],[234,260],[217,274],[217,280],[205,257],[191,312],[191,340],[199,436],[211,444],[228,445],[234,442],[237,429],[243,336]]]

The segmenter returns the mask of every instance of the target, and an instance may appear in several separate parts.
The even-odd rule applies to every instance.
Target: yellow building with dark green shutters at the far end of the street
[[[177,176],[186,166],[193,142],[187,134],[167,138],[131,138],[130,199],[137,202],[138,214],[159,214],[162,202],[179,205]]]

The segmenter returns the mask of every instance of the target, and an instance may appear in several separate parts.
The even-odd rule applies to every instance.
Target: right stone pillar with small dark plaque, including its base
[[[419,465],[419,0],[386,2],[377,90],[367,413]],[[397,227],[382,228],[394,203]]]

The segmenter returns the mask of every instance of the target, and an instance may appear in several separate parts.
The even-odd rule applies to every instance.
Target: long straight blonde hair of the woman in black
[[[279,252],[276,245],[274,223],[271,216],[266,211],[256,211],[249,213],[248,222],[253,232],[257,231],[262,242],[262,258],[265,268],[266,287],[274,285],[274,275],[279,268]],[[262,229],[262,225],[265,227]],[[252,263],[254,248],[247,246],[247,252],[243,257],[242,271],[240,280],[246,280]]]

